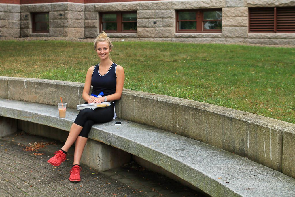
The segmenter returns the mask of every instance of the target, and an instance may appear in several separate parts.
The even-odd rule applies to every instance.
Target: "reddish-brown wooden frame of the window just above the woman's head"
[[[127,22],[137,22],[137,21],[122,21],[123,14],[128,14],[128,13],[136,13],[136,11],[126,11],[126,12],[100,12],[99,13],[99,27],[100,31],[105,31],[106,33],[136,33],[137,30],[123,30],[123,23]],[[117,30],[103,30],[102,29],[102,14],[117,14]]]

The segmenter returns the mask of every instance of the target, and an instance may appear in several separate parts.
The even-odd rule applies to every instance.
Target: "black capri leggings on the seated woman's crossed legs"
[[[111,106],[106,108],[90,109],[86,108],[79,112],[75,124],[82,126],[82,131],[79,136],[88,137],[88,133],[94,123],[106,123],[114,117],[114,103],[111,102]]]

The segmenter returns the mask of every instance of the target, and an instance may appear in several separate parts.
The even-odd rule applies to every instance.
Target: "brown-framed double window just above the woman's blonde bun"
[[[107,33],[136,33],[136,12],[107,12],[100,14],[100,29]]]

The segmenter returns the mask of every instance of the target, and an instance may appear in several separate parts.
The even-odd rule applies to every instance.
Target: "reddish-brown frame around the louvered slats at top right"
[[[295,7],[253,7],[253,8],[249,8],[249,20],[248,20],[248,32],[249,33],[295,33],[295,30],[290,30],[290,31],[281,31],[281,30],[278,30],[278,16],[277,16],[277,9],[295,9]],[[263,9],[273,9],[273,31],[251,31],[251,11],[252,10],[263,10]],[[294,15],[295,16],[295,15]],[[295,21],[295,18],[294,18],[294,21]],[[253,22],[253,21],[252,21]],[[294,23],[294,22],[293,22]],[[293,25],[294,26],[294,25]]]

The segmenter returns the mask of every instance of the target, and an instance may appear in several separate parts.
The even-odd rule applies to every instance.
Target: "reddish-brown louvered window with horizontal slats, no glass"
[[[295,7],[249,8],[249,33],[295,33]]]

